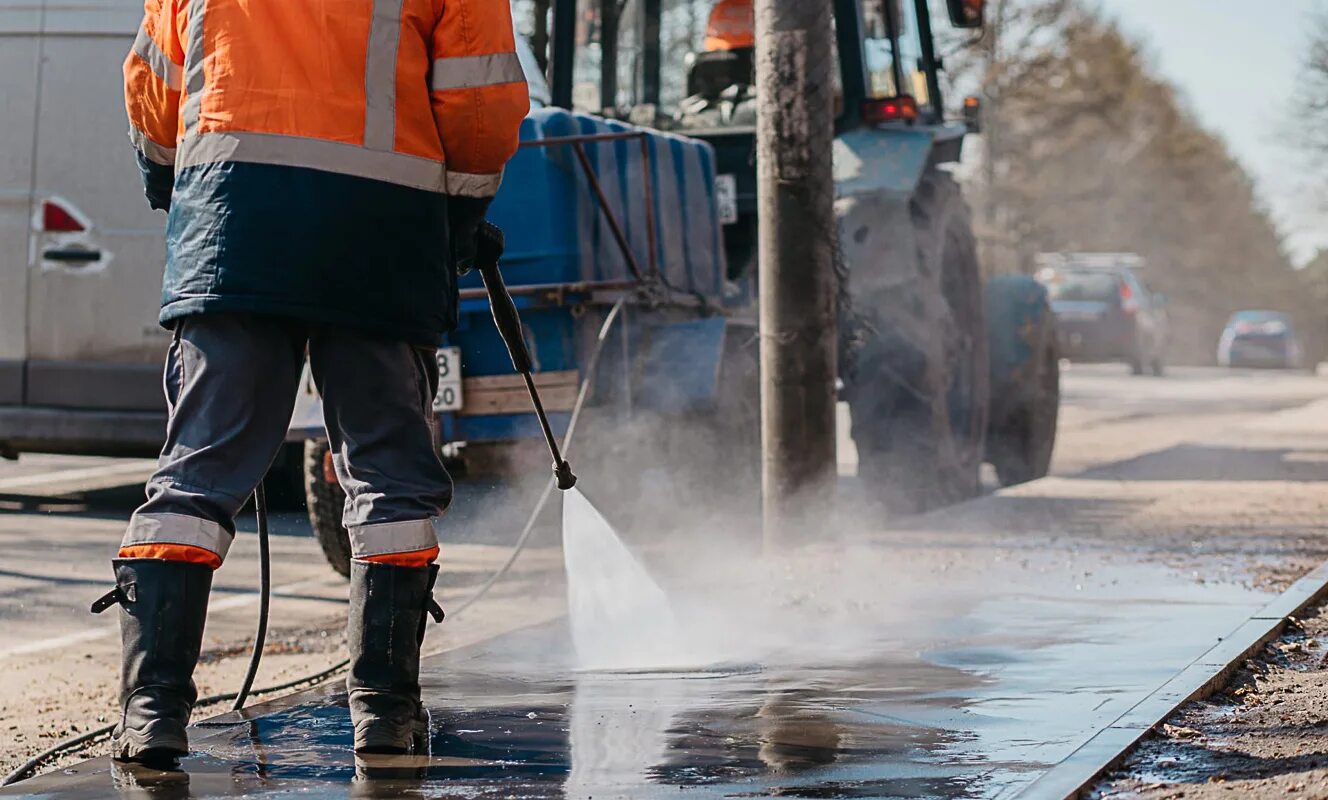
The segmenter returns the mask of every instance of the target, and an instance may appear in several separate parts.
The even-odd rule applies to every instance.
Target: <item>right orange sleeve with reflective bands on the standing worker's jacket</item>
[[[505,0],[444,0],[433,33],[430,89],[448,194],[491,198],[530,110]]]

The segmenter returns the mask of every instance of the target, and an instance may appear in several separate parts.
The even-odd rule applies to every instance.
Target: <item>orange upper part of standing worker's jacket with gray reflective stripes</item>
[[[491,197],[529,109],[506,0],[146,0],[134,145]]]

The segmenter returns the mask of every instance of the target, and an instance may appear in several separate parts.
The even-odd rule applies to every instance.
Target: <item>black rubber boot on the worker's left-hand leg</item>
[[[120,605],[121,716],[110,755],[163,764],[189,755],[189,715],[198,699],[194,667],[203,646],[212,570],[202,563],[118,558],[116,589],[93,603]]]

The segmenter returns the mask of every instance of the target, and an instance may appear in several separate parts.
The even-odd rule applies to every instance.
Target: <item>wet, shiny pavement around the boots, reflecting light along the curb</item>
[[[426,759],[357,764],[345,696],[323,688],[201,723],[179,773],[100,760],[17,788],[68,799],[1013,796],[1270,597],[1162,567],[1065,566],[995,565],[983,586],[938,575],[934,597],[911,585],[906,613],[884,617],[871,602],[847,617],[810,603],[788,614],[791,635],[738,647],[757,660],[680,671],[580,672],[563,623],[509,634],[426,662]]]

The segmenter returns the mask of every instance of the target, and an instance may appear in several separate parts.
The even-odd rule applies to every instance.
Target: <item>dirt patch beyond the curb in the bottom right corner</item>
[[[1150,735],[1092,797],[1328,797],[1328,609]]]

